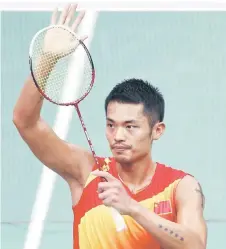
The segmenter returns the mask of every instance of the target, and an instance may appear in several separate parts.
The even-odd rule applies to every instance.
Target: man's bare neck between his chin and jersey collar
[[[150,155],[132,164],[116,163],[119,177],[125,184],[142,185],[151,180],[154,175],[156,163]]]

